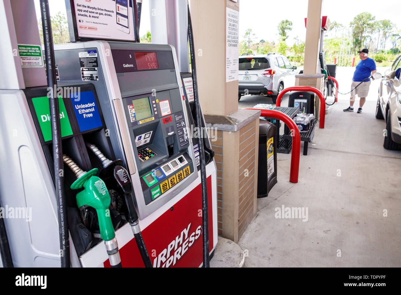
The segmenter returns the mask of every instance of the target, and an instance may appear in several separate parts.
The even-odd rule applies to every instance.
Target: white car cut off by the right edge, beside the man
[[[380,81],[376,118],[386,120],[387,134],[383,146],[388,150],[400,149],[401,144],[401,55]]]

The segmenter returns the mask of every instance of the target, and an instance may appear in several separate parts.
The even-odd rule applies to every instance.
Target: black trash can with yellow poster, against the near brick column
[[[257,197],[267,197],[277,183],[276,126],[259,120],[259,157],[257,168]]]

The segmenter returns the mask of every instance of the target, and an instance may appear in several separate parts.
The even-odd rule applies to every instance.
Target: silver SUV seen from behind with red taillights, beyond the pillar
[[[281,53],[239,57],[238,100],[241,95],[271,96],[275,104],[278,94],[295,85],[296,66]]]

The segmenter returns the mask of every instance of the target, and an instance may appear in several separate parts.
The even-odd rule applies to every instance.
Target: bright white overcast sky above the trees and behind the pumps
[[[33,0],[32,0],[33,1]],[[38,1],[35,1],[36,14],[40,17]],[[225,0],[215,0],[225,1]],[[385,5],[381,4],[385,3]],[[51,15],[61,11],[65,13],[64,0],[49,0]],[[399,0],[324,0],[322,15],[327,15],[330,21],[336,21],[349,26],[354,16],[361,12],[370,12],[376,20],[390,19],[401,29]],[[308,14],[308,0],[239,0],[239,35],[240,40],[248,28],[256,34],[257,41],[277,41],[277,26],[281,20],[292,21],[292,31],[287,40],[292,45],[294,37],[305,40],[304,18]],[[150,30],[148,0],[143,0],[140,36]],[[389,43],[388,43],[389,44]]]

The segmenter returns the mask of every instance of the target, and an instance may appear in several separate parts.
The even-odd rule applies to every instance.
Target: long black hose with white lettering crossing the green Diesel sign
[[[45,57],[47,68],[47,86],[50,89],[50,120],[53,138],[54,180],[57,195],[57,215],[59,219],[60,258],[61,267],[70,267],[70,244],[68,233],[67,206],[64,196],[63,179],[63,151],[61,148],[61,131],[59,116],[59,100],[57,98],[57,80],[55,71],[55,58],[53,48],[53,35],[48,0],[40,0],[42,14],[43,41],[45,43]]]

